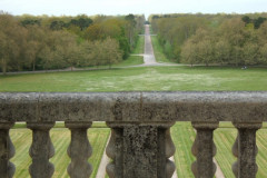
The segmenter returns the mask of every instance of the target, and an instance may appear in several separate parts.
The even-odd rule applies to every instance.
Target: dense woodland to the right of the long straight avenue
[[[152,14],[167,58],[189,65],[267,65],[267,13]]]

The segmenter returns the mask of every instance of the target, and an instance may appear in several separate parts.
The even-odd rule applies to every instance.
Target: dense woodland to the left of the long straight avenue
[[[11,16],[0,11],[0,71],[109,66],[127,59],[144,16]]]

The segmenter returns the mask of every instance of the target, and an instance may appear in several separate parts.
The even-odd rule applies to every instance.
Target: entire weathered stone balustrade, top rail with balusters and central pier
[[[92,149],[87,130],[92,121],[106,121],[111,128],[107,155],[110,178],[170,178],[175,154],[170,127],[176,121],[191,121],[197,131],[192,145],[196,178],[212,178],[216,146],[212,132],[219,121],[231,121],[238,129],[233,147],[237,178],[255,178],[256,131],[267,121],[267,92],[87,92],[87,93],[0,93],[0,177],[14,174],[10,158],[14,147],[9,129],[17,121],[32,130],[29,175],[50,178],[55,149],[49,130],[56,121],[65,121],[71,131],[67,150],[71,178],[88,178]],[[27,152],[26,152],[27,154]]]

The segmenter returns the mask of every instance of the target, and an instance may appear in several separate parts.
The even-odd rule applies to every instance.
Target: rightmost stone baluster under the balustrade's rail
[[[237,161],[233,164],[231,169],[236,178],[256,178],[258,166],[256,155],[256,131],[261,127],[261,122],[233,122],[238,129],[237,139],[233,146],[233,154]]]

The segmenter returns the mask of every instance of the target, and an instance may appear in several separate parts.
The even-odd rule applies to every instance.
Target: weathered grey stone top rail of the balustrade
[[[267,121],[267,91],[0,92],[0,121]]]

